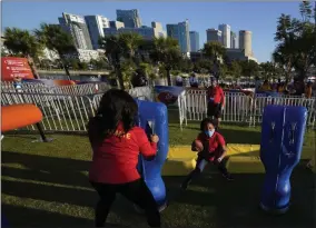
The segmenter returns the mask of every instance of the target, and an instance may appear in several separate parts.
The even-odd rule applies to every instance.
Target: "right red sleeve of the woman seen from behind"
[[[150,142],[147,138],[147,135],[144,129],[139,128],[137,135],[137,142],[139,146],[139,152],[144,157],[152,157],[156,156],[157,153],[157,143],[156,142]]]

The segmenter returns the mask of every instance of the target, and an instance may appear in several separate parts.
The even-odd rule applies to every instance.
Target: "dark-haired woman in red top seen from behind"
[[[160,227],[156,200],[137,170],[139,153],[148,160],[155,158],[159,138],[154,135],[148,140],[145,130],[136,126],[137,113],[137,103],[128,92],[111,89],[101,98],[96,117],[89,120],[93,151],[89,181],[100,197],[96,227],[105,225],[117,194],[142,208],[150,227]]]

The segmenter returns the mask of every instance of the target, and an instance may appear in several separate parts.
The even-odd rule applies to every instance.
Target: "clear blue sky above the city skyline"
[[[199,32],[200,44],[206,41],[206,29],[228,23],[233,31],[253,31],[253,51],[261,62],[270,60],[275,48],[274,33],[280,13],[299,17],[299,2],[167,2],[167,1],[4,1],[2,2],[2,30],[18,27],[33,30],[40,22],[58,23],[62,12],[101,14],[116,19],[116,9],[138,9],[142,23],[167,23],[189,20],[190,30]]]

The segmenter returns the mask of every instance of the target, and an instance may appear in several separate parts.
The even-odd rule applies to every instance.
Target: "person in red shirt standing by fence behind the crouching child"
[[[220,122],[221,110],[225,105],[225,96],[221,87],[217,83],[215,79],[211,80],[211,86],[207,90],[207,116],[209,118],[215,118],[217,121],[217,127]]]

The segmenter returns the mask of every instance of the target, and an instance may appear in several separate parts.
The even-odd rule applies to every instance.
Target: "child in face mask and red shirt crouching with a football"
[[[200,123],[201,132],[192,142],[192,151],[198,151],[198,159],[195,170],[192,170],[181,185],[182,189],[187,189],[192,179],[198,177],[207,163],[211,162],[218,167],[223,177],[233,180],[231,175],[225,167],[224,158],[226,156],[226,145],[224,137],[215,131],[216,122],[206,118]]]

